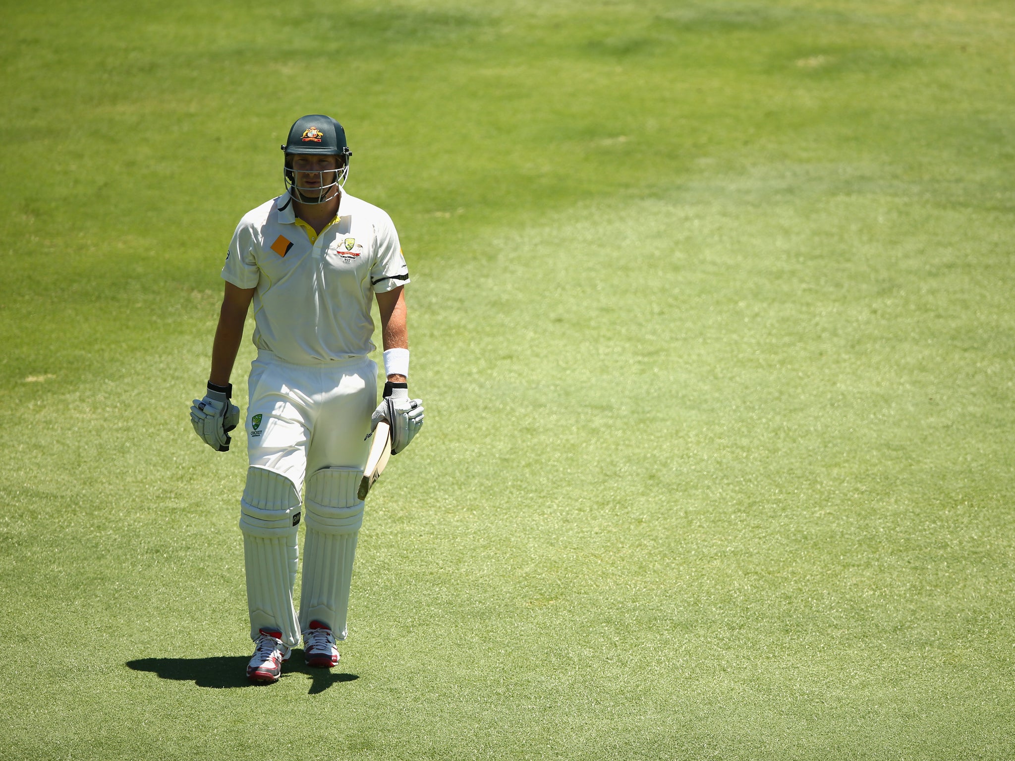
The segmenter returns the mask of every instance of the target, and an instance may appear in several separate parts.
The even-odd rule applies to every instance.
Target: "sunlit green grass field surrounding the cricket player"
[[[0,758],[1015,756],[1010,2],[0,18]],[[250,688],[188,407],[317,112],[427,422],[339,668]]]

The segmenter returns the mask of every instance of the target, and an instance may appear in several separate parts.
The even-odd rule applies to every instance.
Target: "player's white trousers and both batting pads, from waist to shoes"
[[[308,366],[266,351],[251,365],[250,469],[240,528],[253,639],[263,629],[295,646],[311,621],[324,623],[338,639],[346,636],[363,511],[356,489],[369,449],[377,370],[364,356]],[[297,615],[292,594],[300,513],[307,536]]]

